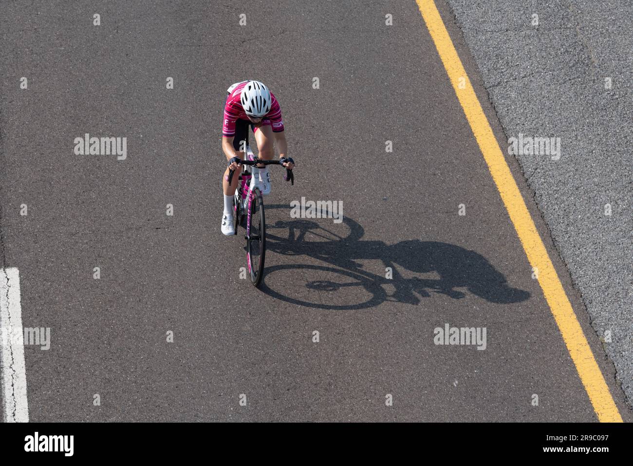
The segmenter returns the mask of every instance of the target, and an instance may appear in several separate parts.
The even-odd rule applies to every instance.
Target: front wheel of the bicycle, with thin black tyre
[[[246,250],[248,254],[248,269],[251,273],[251,282],[258,287],[263,276],[266,255],[266,220],[260,190],[255,189],[251,192],[247,212]]]

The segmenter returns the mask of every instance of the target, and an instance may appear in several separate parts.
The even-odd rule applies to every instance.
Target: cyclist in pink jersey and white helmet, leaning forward
[[[248,145],[248,126],[251,127],[257,142],[258,157],[271,160],[275,155],[274,143],[279,149],[279,157],[288,157],[288,145],[285,140],[284,122],[277,99],[264,84],[259,81],[236,82],[227,89],[227,101],[224,106],[224,124],[222,126],[222,150],[227,160],[239,157],[244,160],[244,150]],[[292,169],[292,162],[284,163]],[[241,172],[242,165],[230,164],[222,177],[224,193],[224,212],[222,214],[222,233],[234,235],[233,196],[238,184],[238,176],[233,176],[229,185],[229,169]],[[270,174],[268,169],[253,167],[253,179],[263,195],[270,193]]]

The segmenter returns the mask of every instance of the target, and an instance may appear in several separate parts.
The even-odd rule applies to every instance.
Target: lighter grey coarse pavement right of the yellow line
[[[519,134],[560,139],[560,159],[517,159],[630,403],[633,3],[450,3],[503,125],[502,147]]]

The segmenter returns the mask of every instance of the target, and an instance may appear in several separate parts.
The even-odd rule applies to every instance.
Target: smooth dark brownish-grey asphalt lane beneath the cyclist
[[[18,2],[0,33],[1,266],[23,326],[51,332],[24,348],[31,421],[598,420],[414,1]],[[220,232],[225,89],[249,78],[296,160],[294,186],[270,169],[261,290]],[[86,133],[127,138],[125,159],[76,155]],[[301,197],[344,221],[291,217]],[[436,345],[447,324],[485,349]]]

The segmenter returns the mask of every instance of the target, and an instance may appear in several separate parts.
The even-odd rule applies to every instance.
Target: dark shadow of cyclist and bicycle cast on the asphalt
[[[266,205],[266,212],[271,209],[285,209],[287,212],[289,206]],[[346,236],[337,233],[343,229],[349,232]],[[260,289],[283,301],[321,309],[361,309],[385,301],[419,304],[421,298],[432,294],[443,294],[452,299],[467,297],[465,292],[456,288],[465,288],[473,295],[498,304],[521,302],[530,296],[525,290],[510,287],[501,272],[472,250],[421,240],[404,240],[389,245],[382,241],[361,240],[364,234],[363,227],[349,217],[338,225],[328,218],[272,221],[268,217],[267,250],[284,256],[310,257],[328,266],[298,264],[295,261],[293,264],[267,267]],[[377,260],[384,265],[376,266]],[[363,264],[361,261],[374,262]],[[298,273],[299,270],[302,273]],[[275,282],[273,275],[279,271],[286,271],[279,274],[280,277],[291,275],[292,283]],[[413,276],[406,278],[403,274]],[[306,275],[315,278],[305,280],[304,287],[309,292],[301,289],[301,278]],[[350,303],[349,300],[355,296],[354,289],[360,288],[365,290],[360,294],[362,302]],[[387,294],[385,288],[393,288],[394,292]],[[287,290],[296,294],[287,295]],[[340,294],[334,294],[337,291]],[[323,299],[316,300],[319,302],[306,300],[306,295],[315,296],[313,292],[320,293],[321,296],[317,297]],[[368,294],[370,299],[363,301],[363,296]],[[332,302],[341,297],[346,303]]]

